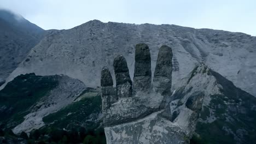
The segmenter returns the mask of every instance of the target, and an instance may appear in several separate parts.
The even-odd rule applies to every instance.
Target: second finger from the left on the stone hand
[[[126,59],[118,55],[114,59],[115,81],[117,82],[117,98],[132,96],[132,81],[127,67]]]

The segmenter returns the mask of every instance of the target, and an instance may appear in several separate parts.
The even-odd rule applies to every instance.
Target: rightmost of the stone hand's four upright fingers
[[[153,91],[168,95],[172,86],[172,49],[166,45],[160,47],[156,62]]]

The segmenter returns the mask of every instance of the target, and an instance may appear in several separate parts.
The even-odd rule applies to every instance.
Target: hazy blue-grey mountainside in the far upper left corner
[[[2,85],[5,78],[42,39],[44,29],[18,14],[0,9],[0,33],[0,85]]]

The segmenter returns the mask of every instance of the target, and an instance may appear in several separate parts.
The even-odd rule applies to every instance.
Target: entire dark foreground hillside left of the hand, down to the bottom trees
[[[0,116],[0,143],[106,143],[100,91],[68,76],[15,77],[0,91]]]

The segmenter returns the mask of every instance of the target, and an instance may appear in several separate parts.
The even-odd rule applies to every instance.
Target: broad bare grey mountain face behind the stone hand
[[[159,47],[173,47],[173,83],[188,75],[195,65],[205,63],[235,86],[256,95],[256,37],[176,25],[134,25],[97,20],[51,32],[33,47],[7,81],[25,73],[65,74],[83,81],[88,87],[97,87],[100,86],[101,68],[106,65],[113,76],[110,66],[119,54],[127,59],[133,76],[134,47],[138,43],[149,46],[153,73]]]

